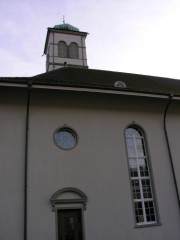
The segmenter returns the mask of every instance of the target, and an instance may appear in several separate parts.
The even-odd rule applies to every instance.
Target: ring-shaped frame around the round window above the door
[[[56,135],[57,133],[61,132],[61,131],[66,131],[66,132],[70,133],[70,134],[73,136],[73,138],[74,138],[74,140],[75,140],[75,144],[74,144],[72,147],[70,147],[70,148],[64,148],[64,147],[60,146],[60,145],[57,143],[57,140],[56,140],[56,138],[55,138],[55,135]],[[64,150],[64,151],[69,151],[69,150],[74,149],[74,148],[77,146],[77,144],[78,144],[78,135],[77,135],[76,131],[75,131],[74,129],[72,129],[71,127],[62,126],[62,127],[60,127],[60,128],[58,128],[58,129],[55,130],[55,132],[54,132],[54,134],[53,134],[53,140],[54,140],[54,144],[55,144],[59,149]]]

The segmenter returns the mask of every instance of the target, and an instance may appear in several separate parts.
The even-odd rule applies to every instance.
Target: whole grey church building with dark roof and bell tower
[[[0,239],[179,240],[180,81],[90,69],[87,35],[0,78]]]

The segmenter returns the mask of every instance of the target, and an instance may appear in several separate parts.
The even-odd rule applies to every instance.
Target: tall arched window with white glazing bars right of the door
[[[125,140],[136,223],[157,223],[144,134],[137,126],[129,126],[125,130]]]

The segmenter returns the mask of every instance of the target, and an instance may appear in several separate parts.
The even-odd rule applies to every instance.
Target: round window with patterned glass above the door
[[[77,136],[74,131],[69,128],[60,128],[54,134],[54,141],[61,149],[72,149],[77,144]]]

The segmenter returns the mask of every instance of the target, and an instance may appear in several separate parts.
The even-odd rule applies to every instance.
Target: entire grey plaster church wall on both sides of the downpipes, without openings
[[[0,239],[23,239],[26,90],[0,88]],[[50,198],[64,187],[88,196],[86,240],[179,240],[180,219],[163,131],[167,100],[32,90],[28,158],[28,239],[56,239]],[[167,118],[179,179],[179,102]],[[146,133],[160,226],[135,228],[124,143],[132,122]],[[79,142],[60,150],[53,133],[67,124]]]

